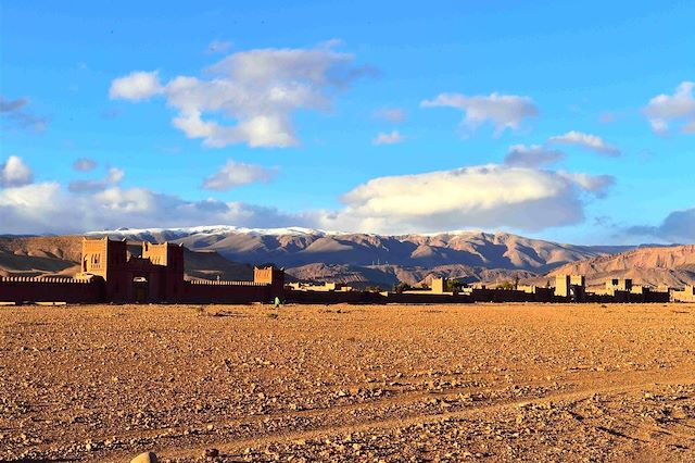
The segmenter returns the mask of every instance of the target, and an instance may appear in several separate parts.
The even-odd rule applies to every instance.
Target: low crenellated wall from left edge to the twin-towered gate
[[[104,301],[103,280],[75,278],[0,277],[0,302],[68,302],[97,303]]]

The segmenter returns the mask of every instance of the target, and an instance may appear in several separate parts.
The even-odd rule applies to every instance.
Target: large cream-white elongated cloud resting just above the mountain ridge
[[[380,233],[467,227],[540,230],[584,220],[584,193],[607,180],[505,165],[375,178],[343,196],[325,227]]]

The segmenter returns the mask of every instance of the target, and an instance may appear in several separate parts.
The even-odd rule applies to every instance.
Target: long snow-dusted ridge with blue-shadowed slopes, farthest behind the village
[[[152,242],[180,242],[192,250],[217,251],[235,262],[275,262],[286,267],[316,263],[358,266],[389,264],[427,268],[466,265],[544,274],[569,262],[632,249],[561,245],[506,233],[482,232],[387,236],[308,228],[208,226],[117,229],[94,232],[92,235]]]

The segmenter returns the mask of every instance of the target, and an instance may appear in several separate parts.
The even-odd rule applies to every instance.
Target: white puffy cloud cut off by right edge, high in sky
[[[669,124],[680,122],[684,133],[695,132],[695,98],[693,97],[695,83],[681,83],[673,95],[658,95],[649,100],[644,108],[644,114],[657,134],[666,134]]]

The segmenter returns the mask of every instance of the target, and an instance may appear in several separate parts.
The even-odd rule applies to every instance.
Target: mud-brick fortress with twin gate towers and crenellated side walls
[[[253,281],[186,280],[181,245],[142,243],[129,255],[126,241],[83,239],[75,278],[0,278],[0,302],[249,303],[283,297],[285,272],[255,267]]]

